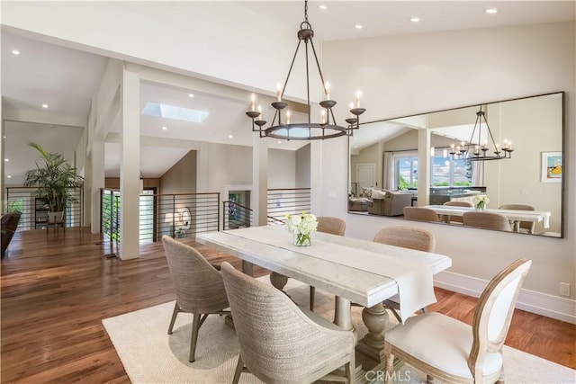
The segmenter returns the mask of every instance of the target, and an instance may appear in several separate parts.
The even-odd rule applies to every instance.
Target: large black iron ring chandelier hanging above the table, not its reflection
[[[272,103],[272,107],[275,109],[274,119],[270,127],[265,128],[266,121],[264,120],[262,109],[258,106],[258,111],[255,105],[255,95],[252,94],[252,99],[250,103],[250,111],[246,112],[247,116],[252,119],[252,131],[259,132],[260,138],[280,138],[286,140],[315,140],[323,138],[338,138],[339,136],[352,136],[355,129],[360,126],[359,116],[365,112],[364,108],[360,108],[360,93],[356,94],[356,105],[352,103],[350,105],[350,117],[346,119],[348,123],[347,127],[339,126],[334,118],[334,112],[332,108],[336,105],[334,100],[330,100],[330,88],[329,83],[324,81],[324,76],[322,76],[322,71],[320,70],[320,62],[318,61],[318,56],[316,55],[316,49],[314,49],[314,43],[312,38],[314,37],[314,31],[310,22],[308,22],[308,1],[304,2],[304,21],[300,24],[300,31],[298,31],[298,45],[296,46],[296,51],[288,70],[288,76],[284,82],[284,87],[277,86],[276,91],[276,101]],[[298,55],[298,49],[304,41],[304,47],[306,52],[306,94],[308,98],[308,121],[307,122],[292,122],[291,113],[286,109],[288,103],[282,100],[284,96],[284,90],[288,84],[288,79],[292,72],[294,61]],[[320,121],[312,122],[311,119],[311,102],[310,102],[310,67],[309,67],[309,43],[316,61],[316,67],[320,74],[320,81],[322,83],[322,88],[326,96],[326,100],[320,102]],[[285,110],[285,112],[284,112]],[[284,121],[283,121],[284,114]]]

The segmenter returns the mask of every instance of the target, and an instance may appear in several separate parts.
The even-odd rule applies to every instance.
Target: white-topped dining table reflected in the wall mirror
[[[423,208],[434,210],[438,215],[442,215],[444,221],[450,222],[450,216],[464,216],[466,212],[473,212],[473,207],[460,207],[455,205],[425,205]],[[500,210],[493,208],[485,208],[482,212],[499,213],[509,220],[512,230],[515,232],[520,231],[521,221],[532,221],[535,223],[542,223],[545,229],[550,228],[550,216],[552,212],[547,210]]]

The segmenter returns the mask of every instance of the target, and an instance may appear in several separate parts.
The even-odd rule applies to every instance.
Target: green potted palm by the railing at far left
[[[76,168],[62,154],[51,153],[36,143],[29,143],[41,155],[41,162],[26,171],[24,186],[38,187],[38,198],[48,208],[48,222],[61,223],[68,202],[75,202],[73,190],[84,182]]]

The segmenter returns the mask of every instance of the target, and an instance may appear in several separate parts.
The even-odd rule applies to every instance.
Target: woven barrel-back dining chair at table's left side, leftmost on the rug
[[[198,331],[208,315],[229,314],[228,297],[222,281],[222,274],[192,246],[185,245],[172,237],[163,236],[162,243],[166,252],[168,268],[176,290],[176,302],[168,335],[178,313],[193,315],[192,337],[190,339],[189,362],[195,360]]]

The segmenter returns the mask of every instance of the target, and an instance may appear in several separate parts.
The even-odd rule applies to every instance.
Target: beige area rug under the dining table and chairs
[[[308,306],[308,285],[290,280],[285,290],[296,302]],[[316,290],[317,312],[331,319],[333,305],[333,296]],[[167,335],[173,308],[174,301],[103,319],[103,326],[130,380],[133,383],[231,382],[239,347],[234,331],[224,324],[224,317],[211,315],[206,319],[198,336],[196,361],[191,363],[188,353],[192,317],[180,314],[174,333]],[[361,311],[362,308],[353,307],[353,323],[360,336],[366,333]],[[392,315],[390,318],[393,319]],[[507,383],[576,383],[576,371],[572,369],[507,346],[504,348]],[[367,378],[374,378],[374,372]],[[396,379],[398,383],[426,381],[421,372],[408,365],[397,372]],[[241,375],[240,382],[260,383],[247,373]]]

